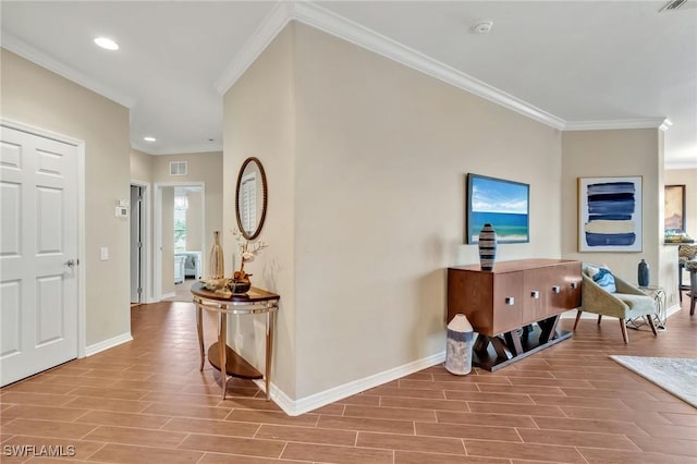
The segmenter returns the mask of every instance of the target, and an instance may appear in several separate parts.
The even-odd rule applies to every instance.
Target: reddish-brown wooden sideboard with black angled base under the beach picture
[[[494,371],[566,340],[562,313],[580,306],[580,261],[521,259],[448,269],[448,320],[467,316],[479,334],[475,366]],[[534,327],[536,325],[536,327]]]

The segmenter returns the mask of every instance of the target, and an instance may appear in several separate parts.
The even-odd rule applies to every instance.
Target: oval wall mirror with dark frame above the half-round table
[[[256,239],[266,219],[267,186],[261,161],[247,158],[240,168],[235,191],[237,228],[247,240]]]

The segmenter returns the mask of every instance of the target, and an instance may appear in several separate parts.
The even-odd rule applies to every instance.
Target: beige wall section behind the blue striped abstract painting
[[[565,258],[607,264],[631,282],[646,259],[651,284],[676,302],[674,249],[663,246],[663,134],[658,129],[565,132],[562,169],[562,248]],[[643,176],[643,252],[578,253],[577,178]]]

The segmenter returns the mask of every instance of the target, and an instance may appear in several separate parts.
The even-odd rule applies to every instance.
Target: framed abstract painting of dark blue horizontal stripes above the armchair
[[[578,178],[578,251],[641,252],[641,176]]]

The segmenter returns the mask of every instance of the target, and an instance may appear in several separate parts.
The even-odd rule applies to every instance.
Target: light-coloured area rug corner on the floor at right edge
[[[610,357],[697,407],[697,359],[617,355]]]

